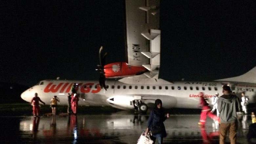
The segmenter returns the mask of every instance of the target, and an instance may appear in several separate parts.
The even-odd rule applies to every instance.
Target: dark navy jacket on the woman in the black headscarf
[[[165,121],[167,117],[165,117],[165,113],[163,108],[154,108],[150,111],[149,118],[148,118],[148,124],[147,127],[151,131],[153,127],[160,126],[162,127],[163,131],[160,135],[161,137],[166,137],[166,131],[163,122]]]

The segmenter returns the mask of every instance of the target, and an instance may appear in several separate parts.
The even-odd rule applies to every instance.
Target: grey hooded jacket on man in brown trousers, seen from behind
[[[237,120],[236,112],[241,111],[240,100],[236,95],[222,95],[218,99],[218,111],[221,123],[231,123]]]

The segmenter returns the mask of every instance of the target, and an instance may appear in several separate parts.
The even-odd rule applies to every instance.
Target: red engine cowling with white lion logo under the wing
[[[106,78],[123,78],[143,74],[147,69],[143,66],[131,66],[125,62],[110,63],[104,66]]]

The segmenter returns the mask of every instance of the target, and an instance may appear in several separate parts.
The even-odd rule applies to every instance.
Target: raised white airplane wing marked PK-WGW
[[[158,78],[160,67],[159,0],[126,0],[126,63],[144,66]]]

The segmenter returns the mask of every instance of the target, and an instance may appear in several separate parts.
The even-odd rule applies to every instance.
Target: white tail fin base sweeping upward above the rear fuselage
[[[226,78],[220,79],[215,81],[233,81],[233,82],[245,82],[245,83],[256,83],[256,67],[248,71],[247,73],[233,77],[233,78]]]

